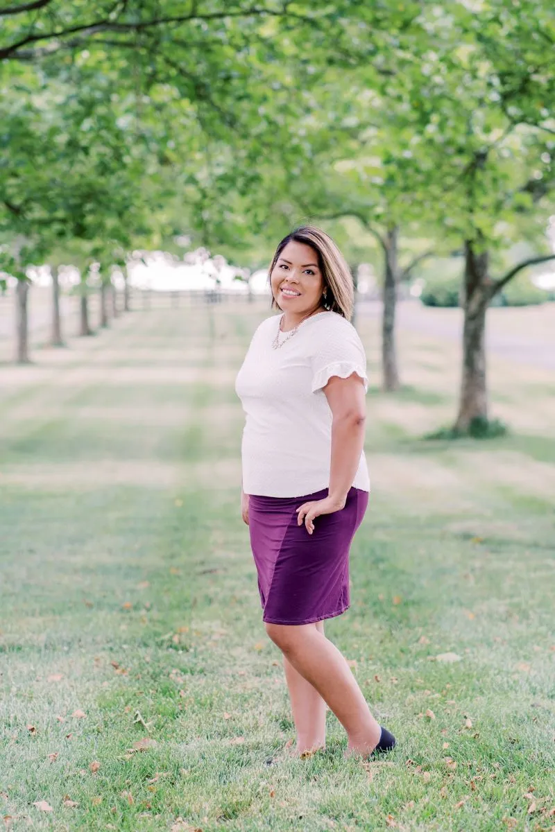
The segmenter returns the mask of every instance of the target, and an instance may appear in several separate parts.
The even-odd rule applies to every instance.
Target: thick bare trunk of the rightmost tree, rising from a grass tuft
[[[474,419],[488,419],[486,384],[486,312],[488,291],[488,252],[477,253],[473,241],[464,244],[463,290],[463,372],[455,430],[466,432]]]

